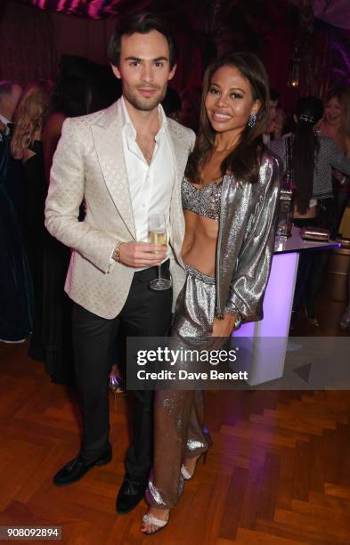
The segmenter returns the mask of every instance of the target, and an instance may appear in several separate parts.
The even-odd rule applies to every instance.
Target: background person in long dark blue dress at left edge
[[[0,83],[0,340],[24,342],[33,329],[34,297],[23,243],[21,162],[12,158],[12,118],[21,87]]]

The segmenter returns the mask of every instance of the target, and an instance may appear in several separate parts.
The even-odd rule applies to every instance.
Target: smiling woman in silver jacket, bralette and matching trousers
[[[241,321],[261,320],[273,256],[280,161],[265,150],[265,68],[252,53],[232,53],[207,70],[199,135],[183,178],[187,276],[175,309],[172,340],[229,338]],[[187,340],[186,340],[187,339]],[[191,370],[191,362],[182,362]],[[208,450],[202,393],[159,390],[154,408],[154,466],[142,532],[167,525]]]

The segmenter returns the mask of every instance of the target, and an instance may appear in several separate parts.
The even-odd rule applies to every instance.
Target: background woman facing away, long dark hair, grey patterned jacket
[[[330,138],[318,136],[315,126],[323,115],[322,101],[316,97],[300,98],[294,116],[295,131],[269,143],[281,157],[295,187],[294,224],[297,227],[320,226],[319,200],[332,197],[331,169],[350,174],[350,159]],[[287,159],[286,159],[287,158]],[[321,284],[327,252],[301,254],[293,302],[293,321],[301,305],[307,320],[319,322],[314,313],[314,300]],[[293,324],[292,324],[293,325]]]

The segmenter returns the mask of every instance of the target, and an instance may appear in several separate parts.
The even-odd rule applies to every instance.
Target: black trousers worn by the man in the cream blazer
[[[164,278],[169,278],[168,266],[168,262],[162,265]],[[108,378],[116,362],[113,355],[119,327],[126,337],[162,337],[170,329],[172,289],[150,289],[150,281],[157,274],[158,267],[134,273],[126,304],[112,320],[77,304],[73,307],[77,391],[83,417],[81,453],[86,461],[98,458],[109,445]],[[126,473],[139,478],[148,474],[152,463],[153,395],[150,391],[137,391],[132,397],[133,435],[126,453]]]

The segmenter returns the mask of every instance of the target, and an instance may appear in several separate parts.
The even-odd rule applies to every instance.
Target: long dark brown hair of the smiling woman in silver
[[[221,173],[233,173],[242,182],[256,183],[259,175],[259,163],[264,145],[262,134],[265,132],[269,118],[269,84],[263,63],[253,53],[228,53],[208,66],[203,79],[203,94],[200,106],[199,134],[186,167],[186,176],[192,182],[200,180],[199,172],[208,161],[214,148],[216,131],[211,126],[205,101],[212,78],[217,69],[231,66],[240,70],[248,79],[253,100],[260,101],[256,126],[248,125],[240,134],[240,142],[230,151],[221,163]]]

